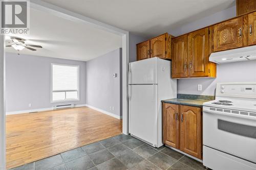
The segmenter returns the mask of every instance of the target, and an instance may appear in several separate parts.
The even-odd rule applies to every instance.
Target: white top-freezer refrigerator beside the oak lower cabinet
[[[129,133],[153,147],[163,145],[161,100],[177,97],[170,65],[157,57],[129,63]]]

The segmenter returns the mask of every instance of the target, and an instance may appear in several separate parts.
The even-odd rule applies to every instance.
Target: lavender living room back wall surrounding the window
[[[51,103],[51,63],[80,66],[80,101]],[[64,103],[86,104],[86,62],[6,53],[7,112],[51,108]]]

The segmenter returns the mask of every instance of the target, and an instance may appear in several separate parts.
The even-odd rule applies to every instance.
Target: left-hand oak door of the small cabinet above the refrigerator
[[[137,61],[150,58],[150,41],[137,44]]]

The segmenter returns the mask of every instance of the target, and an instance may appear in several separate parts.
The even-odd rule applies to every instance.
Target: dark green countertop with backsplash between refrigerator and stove
[[[183,94],[184,95],[184,94]],[[183,96],[182,95],[182,96]],[[178,97],[181,95],[178,95]],[[193,97],[195,96],[195,97]],[[203,107],[204,102],[209,102],[214,99],[211,99],[211,97],[201,97],[199,95],[193,95],[191,97],[191,94],[187,97],[188,99],[180,99],[180,98],[175,98],[175,99],[167,99],[167,100],[162,100],[161,102],[163,103],[172,103],[172,104],[178,104],[178,105],[186,105],[186,106],[195,106],[195,107]],[[183,96],[184,97],[184,96]],[[206,100],[207,99],[207,100]]]

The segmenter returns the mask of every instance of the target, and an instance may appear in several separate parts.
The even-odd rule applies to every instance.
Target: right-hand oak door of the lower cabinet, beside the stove
[[[180,105],[180,150],[202,158],[201,108]]]

